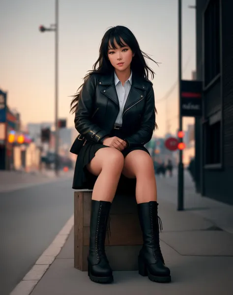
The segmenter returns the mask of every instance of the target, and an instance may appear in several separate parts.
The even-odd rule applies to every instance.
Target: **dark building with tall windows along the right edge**
[[[233,1],[196,0],[197,80],[203,117],[196,118],[196,187],[233,204]]]

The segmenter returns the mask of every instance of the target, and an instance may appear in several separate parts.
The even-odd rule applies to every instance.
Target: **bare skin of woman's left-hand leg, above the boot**
[[[87,170],[98,176],[92,200],[112,202],[124,166],[124,157],[116,148],[101,148],[87,165]]]

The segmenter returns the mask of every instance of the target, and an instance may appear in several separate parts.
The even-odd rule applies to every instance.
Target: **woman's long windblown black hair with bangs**
[[[97,73],[102,75],[108,75],[113,72],[114,67],[108,59],[108,48],[110,41],[112,48],[116,49],[114,42],[115,40],[117,45],[120,47],[123,47],[125,46],[125,44],[127,44],[134,53],[134,57],[130,64],[133,74],[136,74],[137,76],[146,79],[149,79],[150,74],[151,78],[153,79],[155,73],[151,68],[147,66],[145,58],[154,61],[156,64],[158,63],[155,60],[151,59],[145,52],[143,52],[140,49],[138,41],[130,29],[124,26],[117,26],[108,29],[104,34],[100,44],[99,58],[94,63],[93,69],[88,71],[89,73],[87,73],[87,75],[84,77],[84,83],[86,82],[88,76],[91,74]],[[124,43],[121,40],[123,40]],[[79,87],[79,89],[82,89],[82,87],[83,84]],[[76,94],[73,95],[73,99],[70,104],[70,112],[72,114],[75,113],[78,107],[80,96],[79,89],[77,90]]]

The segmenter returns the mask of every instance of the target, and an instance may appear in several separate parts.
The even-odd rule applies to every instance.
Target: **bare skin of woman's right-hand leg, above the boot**
[[[153,161],[144,150],[133,150],[126,157],[122,173],[128,178],[137,178],[137,203],[157,201],[157,187]]]

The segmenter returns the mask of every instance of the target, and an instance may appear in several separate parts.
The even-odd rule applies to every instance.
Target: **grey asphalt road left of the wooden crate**
[[[73,214],[71,179],[0,193],[0,294],[9,295]]]

